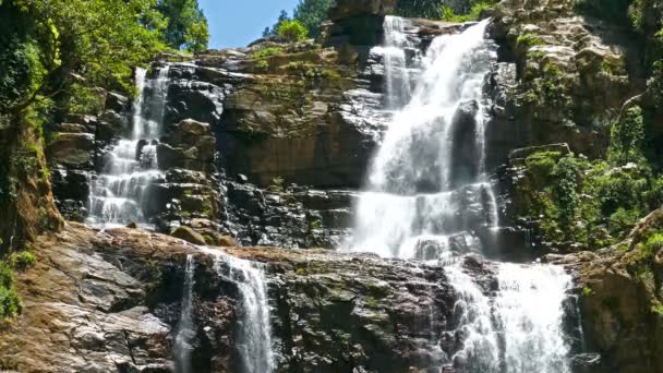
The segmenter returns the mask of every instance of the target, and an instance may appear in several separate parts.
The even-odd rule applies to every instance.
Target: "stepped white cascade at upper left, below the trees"
[[[157,79],[149,80],[144,69],[136,69],[140,94],[133,103],[132,139],[120,140],[112,147],[103,172],[93,183],[88,224],[112,227],[146,222],[145,191],[153,180],[161,177],[157,169],[156,143],[162,128],[168,72],[165,65]]]

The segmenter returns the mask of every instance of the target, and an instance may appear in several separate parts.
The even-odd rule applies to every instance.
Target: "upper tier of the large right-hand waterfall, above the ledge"
[[[398,24],[389,20],[385,23]],[[483,22],[433,40],[411,100],[395,113],[373,158],[367,191],[355,208],[353,251],[411,258],[421,239],[444,240],[473,228],[459,226],[458,215],[466,209],[459,202],[479,204],[481,222],[497,225],[495,197],[482,165],[483,85],[495,59],[495,46],[483,38],[485,26]],[[400,33],[398,27],[390,31]]]

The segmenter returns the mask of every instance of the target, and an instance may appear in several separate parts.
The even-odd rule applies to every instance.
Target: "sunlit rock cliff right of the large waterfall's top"
[[[627,69],[628,32],[579,15],[567,0],[503,1],[494,17],[501,59],[515,64],[495,70],[496,119],[489,129],[497,142],[489,158],[504,159],[501,139],[514,135],[520,146],[566,142],[603,156],[610,124],[638,92]]]

